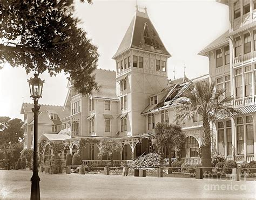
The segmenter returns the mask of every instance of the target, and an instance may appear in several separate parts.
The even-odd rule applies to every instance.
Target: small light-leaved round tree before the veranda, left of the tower
[[[113,166],[113,153],[122,151],[122,143],[116,140],[103,140],[99,143],[98,156],[109,156]]]

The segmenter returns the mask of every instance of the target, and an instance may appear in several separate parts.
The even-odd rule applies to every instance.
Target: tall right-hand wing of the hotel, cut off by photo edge
[[[208,57],[210,80],[234,97],[231,105],[241,114],[218,116],[216,148],[227,160],[250,162],[256,158],[256,1],[218,2],[228,6],[230,28],[199,55]]]

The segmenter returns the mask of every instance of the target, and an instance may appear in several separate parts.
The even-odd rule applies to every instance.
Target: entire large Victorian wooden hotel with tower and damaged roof
[[[215,80],[217,87],[226,88],[226,96],[234,96],[233,106],[241,112],[232,118],[218,116],[219,122],[216,127],[212,126],[217,151],[227,159],[236,154],[238,161],[256,158],[256,31],[253,30],[256,29],[256,2],[219,2],[229,6],[230,29],[199,52],[209,58],[209,75],[188,80],[184,73],[183,78],[168,80],[167,62],[171,54],[160,40],[146,9],[137,8],[112,58],[116,61],[116,72],[96,69],[100,90],[87,95],[80,94],[71,80],[62,109],[46,105],[41,109],[39,122],[40,118],[47,118],[45,127],[48,129],[38,131],[39,142],[63,141],[66,145],[60,154],[65,155],[77,151],[80,138],[119,140],[123,151],[114,155],[114,160],[119,162],[151,152],[156,123],[178,123],[187,135],[181,160],[199,163],[197,149],[203,133],[201,117],[194,116],[185,122],[174,122],[174,118],[184,91],[192,89],[194,82]],[[32,124],[30,107],[28,104],[22,106],[24,148],[30,148],[28,144],[33,141],[29,128]],[[174,151],[170,153],[175,158]],[[82,152],[83,163],[99,162],[97,154],[98,146],[88,144]],[[168,154],[165,149],[166,158]],[[104,161],[106,159],[101,158],[102,162],[108,162]]]

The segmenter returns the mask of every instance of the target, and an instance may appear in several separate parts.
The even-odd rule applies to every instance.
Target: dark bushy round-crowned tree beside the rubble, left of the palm
[[[186,135],[181,131],[180,126],[167,123],[157,123],[154,130],[153,144],[157,147],[157,151],[162,158],[163,148],[166,147],[168,149],[169,167],[172,167],[172,148],[176,150],[181,149],[185,142]]]

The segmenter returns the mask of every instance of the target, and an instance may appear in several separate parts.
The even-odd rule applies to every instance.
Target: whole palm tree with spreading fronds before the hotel
[[[203,117],[203,167],[212,166],[210,123],[217,123],[217,115],[229,117],[239,113],[230,106],[233,97],[224,97],[224,92],[225,89],[215,89],[215,82],[197,82],[194,89],[185,91],[185,98],[179,101],[181,105],[177,109],[176,120],[190,120],[198,115]]]

